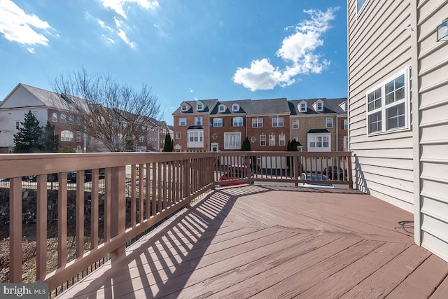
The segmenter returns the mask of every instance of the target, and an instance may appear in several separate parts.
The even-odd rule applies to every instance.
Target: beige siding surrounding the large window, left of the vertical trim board
[[[366,113],[367,90],[411,66],[409,6],[367,1],[356,15],[349,1],[349,142],[356,188],[413,211],[412,131],[367,136]]]

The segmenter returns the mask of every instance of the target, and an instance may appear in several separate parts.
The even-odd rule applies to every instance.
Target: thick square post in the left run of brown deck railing
[[[126,229],[126,167],[111,168],[111,237],[116,237]],[[111,258],[125,253],[125,244],[111,252]]]

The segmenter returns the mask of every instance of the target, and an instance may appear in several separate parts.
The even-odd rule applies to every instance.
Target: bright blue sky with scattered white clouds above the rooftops
[[[0,100],[87,69],[158,96],[346,97],[346,0],[0,0]]]

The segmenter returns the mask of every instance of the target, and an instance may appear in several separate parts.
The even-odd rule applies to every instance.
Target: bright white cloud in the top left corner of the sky
[[[51,27],[48,22],[36,15],[28,15],[10,0],[0,1],[0,16],[0,33],[8,41],[20,43],[30,53],[34,53],[31,45],[48,46],[48,39],[42,34],[49,34]]]

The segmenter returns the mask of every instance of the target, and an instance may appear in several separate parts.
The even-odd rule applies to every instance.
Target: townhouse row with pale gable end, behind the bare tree
[[[15,148],[14,134],[20,129],[25,113],[31,110],[41,126],[45,127],[47,121],[55,127],[55,134],[59,135],[59,147],[71,147],[77,152],[109,151],[102,142],[92,136],[84,134],[76,125],[78,111],[73,109],[76,104],[85,104],[85,100],[55,92],[34,88],[19,83],[0,103],[0,153],[12,153]],[[101,109],[101,108],[99,108]],[[126,113],[121,111],[120,124],[126,126]],[[118,120],[117,120],[118,121]],[[135,126],[132,149],[162,151],[165,143],[165,134],[169,128],[165,122],[157,120],[145,121]],[[138,128],[137,128],[138,127]],[[163,137],[161,136],[161,134]],[[155,140],[155,142],[150,142]]]

